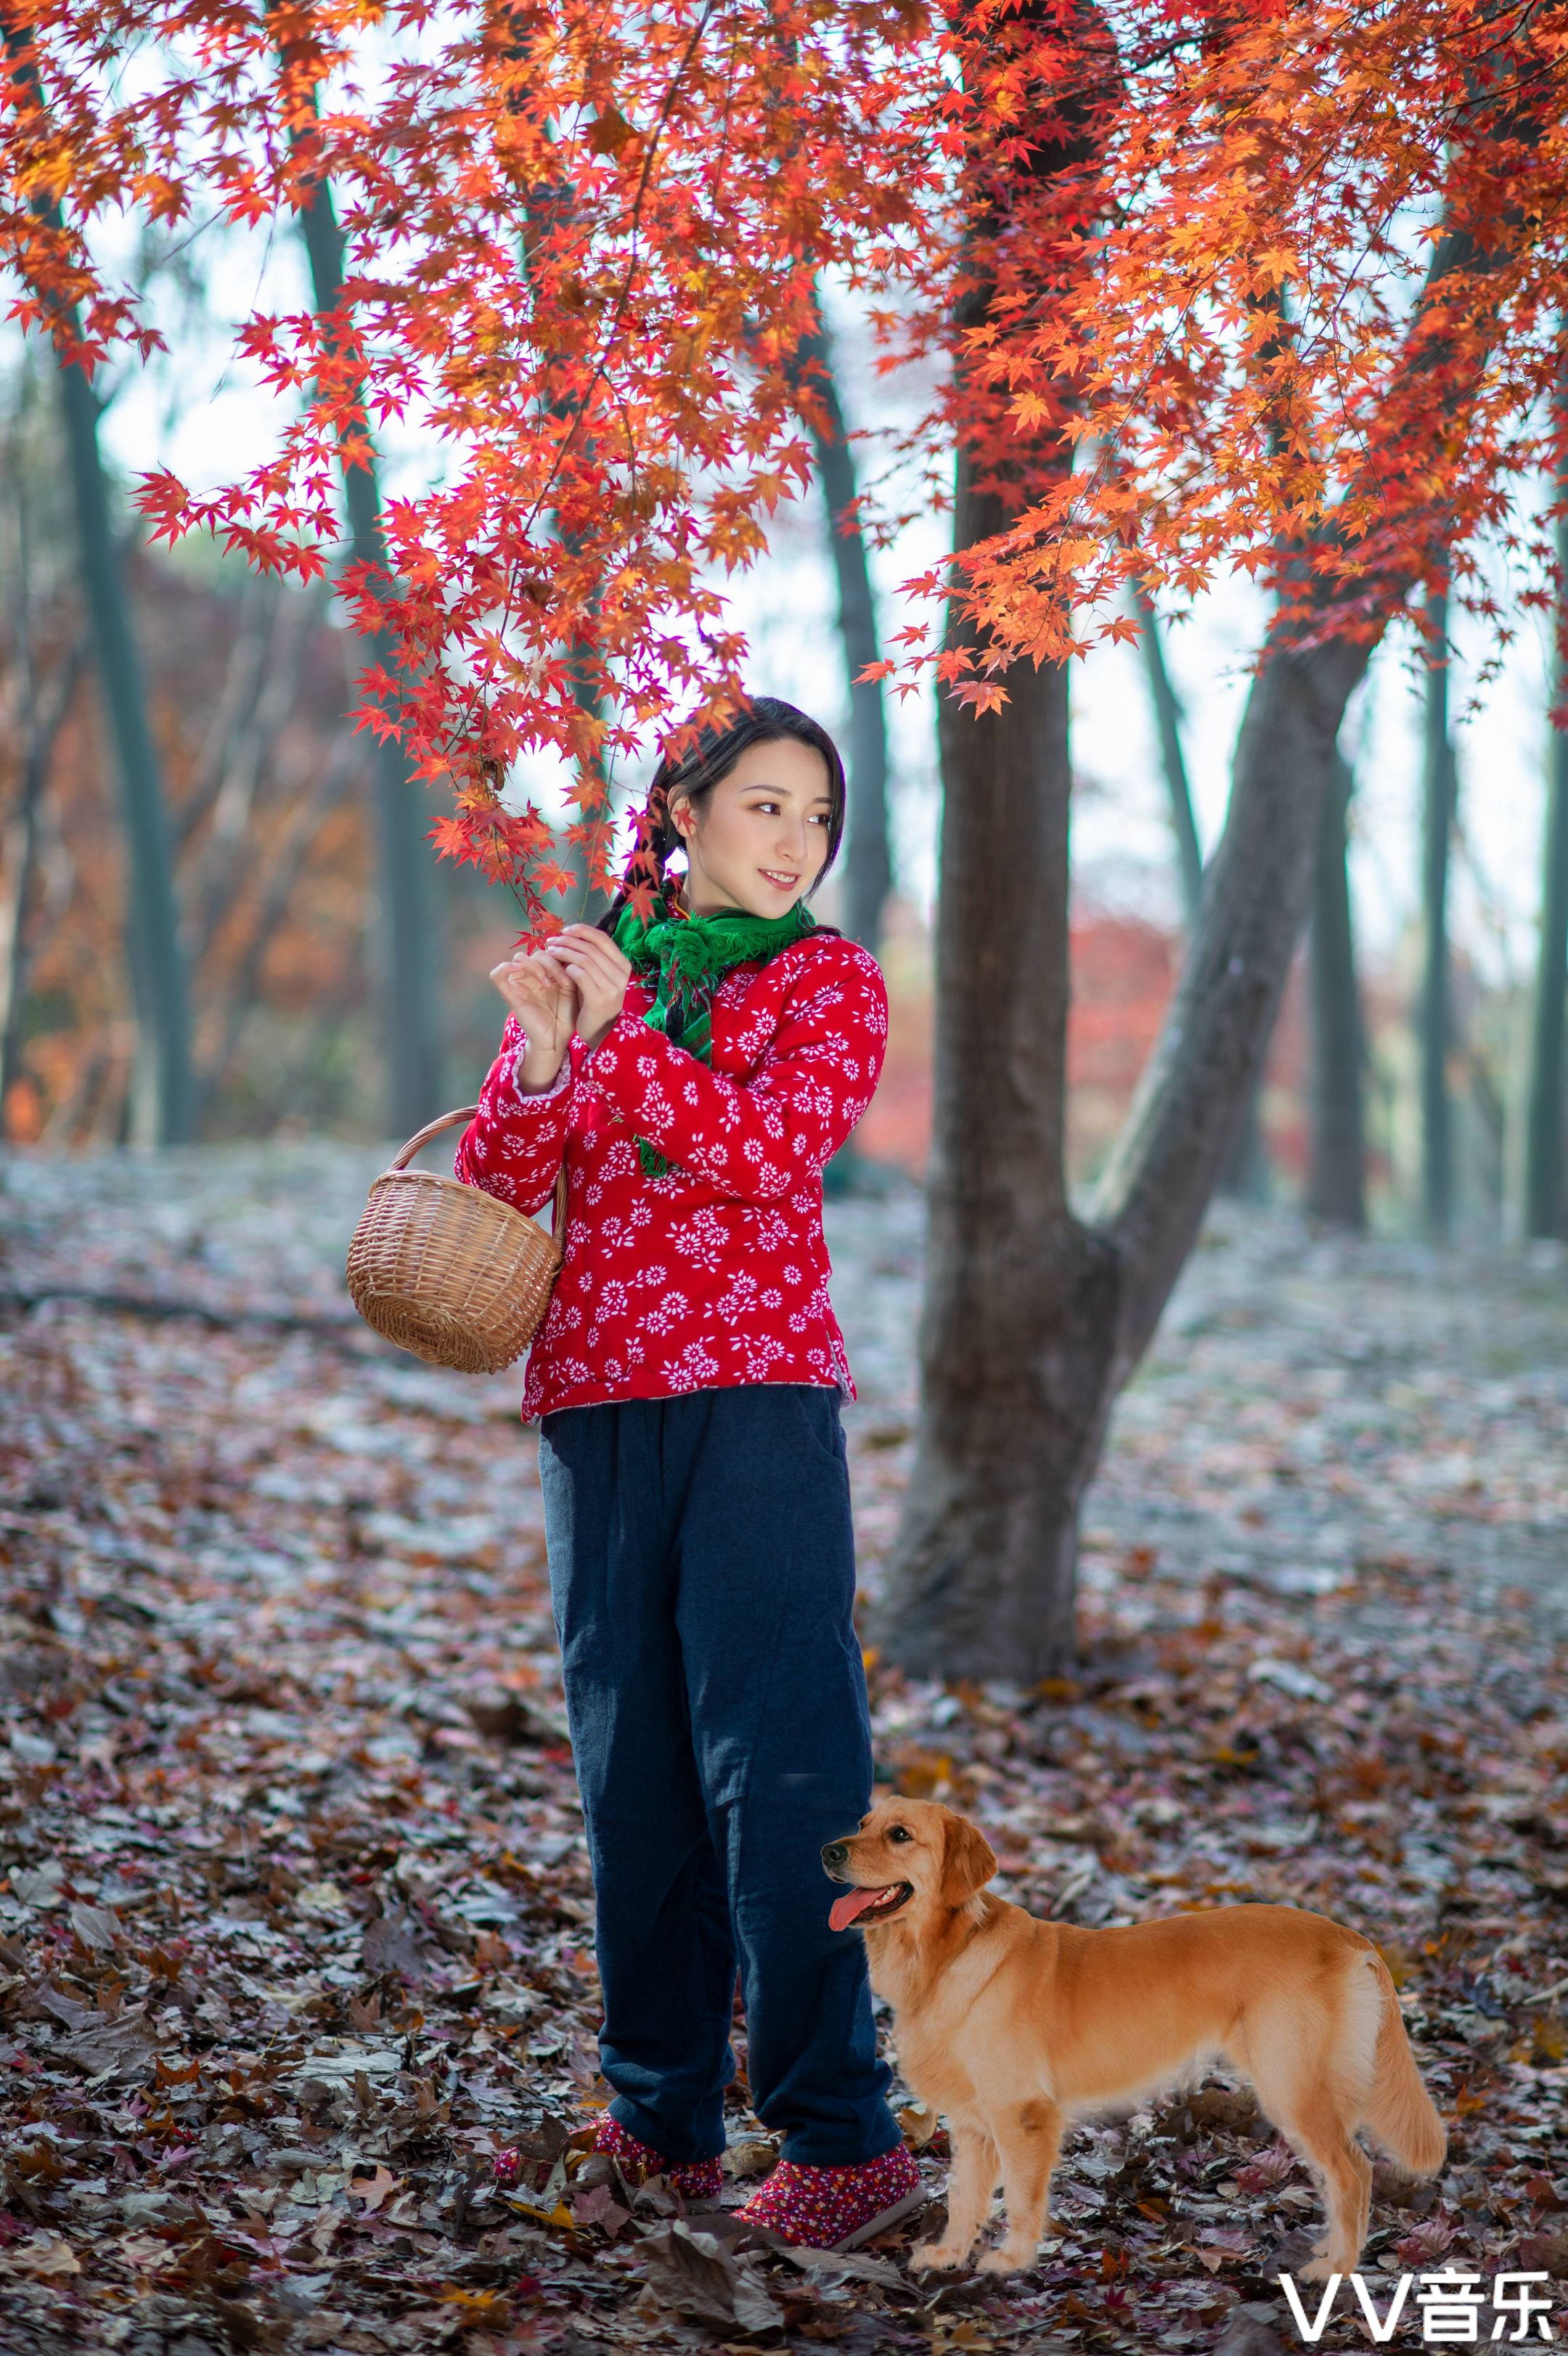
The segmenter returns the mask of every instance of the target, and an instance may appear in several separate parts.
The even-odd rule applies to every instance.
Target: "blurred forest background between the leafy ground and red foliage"
[[[815,700],[841,730],[852,834],[819,914],[883,957],[892,997],[883,1086],[836,1176],[864,1178],[873,1164],[897,1164],[918,1178],[930,1147],[935,761],[918,749],[916,730],[930,728],[930,709],[918,709],[913,730],[909,719],[895,728],[878,688],[850,688],[878,655],[873,561],[857,530],[829,530],[829,516],[843,518],[857,490],[852,410],[864,386],[852,370],[845,386],[826,325],[810,358],[824,370],[836,426],[815,436],[819,497],[779,521],[775,558],[744,594],[758,615],[775,605],[775,646],[791,629],[805,641],[775,655],[772,669],[786,676],[758,683]],[[153,1143],[160,1133],[155,1088],[139,1088],[137,1077],[153,1046],[139,1039],[132,990],[137,867],[115,785],[115,728],[125,719],[97,676],[87,596],[94,563],[113,573],[97,587],[99,596],[108,587],[120,610],[151,737],[188,999],[188,1136],[386,1136],[398,1126],[388,1117],[398,1096],[384,1072],[379,1018],[377,754],[346,716],[365,650],[341,627],[330,584],[306,591],[257,577],[210,542],[188,540],[172,556],[141,544],[132,485],[97,419],[87,459],[99,469],[113,540],[108,558],[94,551],[82,532],[80,481],[73,490],[82,426],[78,410],[73,450],[66,386],[52,351],[12,337],[0,372],[5,1138],[78,1152]],[[108,391],[113,401],[113,379]],[[1142,815],[1154,794],[1163,827],[1154,858],[1147,825],[1142,853],[1118,858],[1118,789],[1081,777],[1076,827],[1088,822],[1099,843],[1074,888],[1069,1091],[1081,1185],[1099,1171],[1156,1039],[1203,876],[1168,627],[1147,605],[1140,622],[1137,657],[1121,657],[1121,683],[1137,676],[1140,709],[1102,686],[1095,726],[1078,730],[1097,768],[1125,773],[1142,759],[1154,770]],[[758,646],[768,662],[765,627]],[[836,676],[815,662],[822,646],[841,657]],[[1184,664],[1191,674],[1191,650]],[[810,688],[789,674],[810,674]],[[1497,905],[1488,862],[1474,855],[1448,671],[1406,646],[1384,655],[1382,679],[1396,693],[1384,695],[1377,740],[1363,723],[1361,759],[1342,763],[1318,851],[1314,921],[1229,1190],[1351,1227],[1373,1220],[1476,1239],[1563,1235],[1568,787],[1563,744],[1547,723],[1544,676],[1535,759],[1502,775],[1488,768],[1469,787],[1493,829],[1502,822],[1507,839],[1540,843],[1540,867],[1509,876],[1511,909]],[[1403,810],[1384,796],[1363,818],[1368,744],[1387,768],[1389,704],[1398,704],[1394,723],[1415,740],[1420,796]],[[1107,714],[1111,735],[1125,737],[1109,747],[1109,763]],[[1351,714],[1344,737],[1354,733]],[[530,789],[539,789],[537,780]],[[443,799],[426,799],[436,818]],[[622,801],[633,799],[629,785]],[[417,820],[421,832],[426,822]],[[1394,839],[1401,827],[1406,843]],[[1420,876],[1410,905],[1384,895],[1366,942],[1347,858],[1358,829],[1377,832],[1384,869],[1403,862]],[[426,886],[433,879],[419,916],[428,940],[412,945],[412,968],[440,975],[440,1081],[426,1065],[421,1088],[431,1100],[419,1107],[436,1112],[471,1096],[490,1060],[499,1013],[487,966],[516,938],[518,909],[471,867],[428,853],[424,865]],[[1464,884],[1464,921],[1453,916],[1455,879]],[[1537,912],[1523,954],[1521,907]]]

